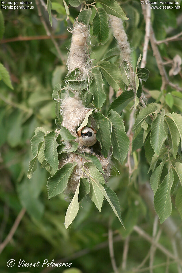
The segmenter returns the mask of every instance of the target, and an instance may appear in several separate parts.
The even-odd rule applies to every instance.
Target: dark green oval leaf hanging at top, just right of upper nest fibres
[[[106,11],[102,7],[98,7],[92,22],[93,35],[98,44],[104,45],[109,37],[109,24]]]

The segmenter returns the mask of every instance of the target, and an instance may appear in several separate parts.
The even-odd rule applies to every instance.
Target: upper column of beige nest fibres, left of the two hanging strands
[[[69,30],[70,31],[70,30]],[[75,68],[79,68],[82,73],[82,80],[89,77],[91,61],[88,50],[88,41],[90,40],[89,25],[75,22],[71,37],[71,47],[67,60],[68,73]]]

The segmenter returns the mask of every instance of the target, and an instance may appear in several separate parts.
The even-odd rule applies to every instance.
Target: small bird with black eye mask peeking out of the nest
[[[90,147],[94,144],[96,144],[96,130],[92,127],[83,127],[77,132],[77,135],[79,137],[79,141],[83,146]],[[93,152],[93,148],[91,148]]]

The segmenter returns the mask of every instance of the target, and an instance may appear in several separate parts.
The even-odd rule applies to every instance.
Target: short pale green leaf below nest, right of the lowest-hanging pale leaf
[[[101,211],[102,203],[103,203],[103,199],[104,199],[104,195],[102,193],[101,188],[102,188],[102,186],[100,185],[100,183],[90,179],[90,193],[89,193],[89,195],[90,195],[92,202],[94,202],[94,204],[98,208],[99,212]]]

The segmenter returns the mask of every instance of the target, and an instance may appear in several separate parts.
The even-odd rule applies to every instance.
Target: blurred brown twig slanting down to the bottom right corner
[[[171,253],[168,249],[166,249],[163,245],[161,245],[160,243],[157,243],[154,241],[154,239],[152,237],[150,237],[150,235],[148,235],[148,233],[146,233],[143,229],[141,229],[139,226],[134,226],[133,230],[136,231],[140,236],[142,236],[144,239],[146,239],[148,242],[150,242],[151,244],[154,244],[158,249],[160,249],[160,251],[162,251],[162,253],[164,253],[166,256],[169,256],[170,258],[176,260],[176,257],[173,253]],[[182,261],[180,261],[180,263],[182,264]]]

